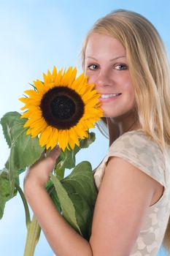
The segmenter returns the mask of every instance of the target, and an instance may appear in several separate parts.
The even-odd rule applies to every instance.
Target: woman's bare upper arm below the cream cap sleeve
[[[110,157],[93,216],[94,255],[129,255],[158,182],[134,165]]]

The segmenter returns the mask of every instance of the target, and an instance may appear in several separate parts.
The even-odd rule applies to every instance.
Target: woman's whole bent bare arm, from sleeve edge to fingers
[[[58,152],[53,152],[54,156]],[[56,157],[42,159],[28,170],[24,192],[50,246],[58,256],[128,256],[155,192],[155,180],[112,157],[98,192],[90,242],[58,213],[45,190]]]

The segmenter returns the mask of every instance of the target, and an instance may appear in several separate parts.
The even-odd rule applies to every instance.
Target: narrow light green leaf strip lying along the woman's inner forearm
[[[75,208],[72,203],[72,200],[69,198],[66,189],[64,189],[64,187],[62,186],[61,181],[59,181],[58,178],[56,178],[53,174],[51,174],[50,176],[55,185],[58,198],[61,202],[63,217],[65,217],[65,219],[69,222],[70,225],[72,225],[72,227],[74,227],[75,230],[81,233],[80,227],[77,225]]]

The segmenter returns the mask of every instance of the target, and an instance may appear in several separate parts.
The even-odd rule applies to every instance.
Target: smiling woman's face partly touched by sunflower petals
[[[105,117],[126,116],[134,109],[135,97],[125,48],[105,34],[93,33],[85,50],[85,75],[101,94]]]

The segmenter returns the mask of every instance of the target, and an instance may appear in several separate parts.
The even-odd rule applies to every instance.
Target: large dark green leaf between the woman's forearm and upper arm
[[[63,207],[67,207],[66,214],[63,211],[63,217],[71,225],[72,222],[74,224],[76,223],[81,230],[80,234],[88,240],[90,238],[93,209],[97,196],[90,162],[81,162],[74,167],[74,170],[69,176],[61,180],[64,190],[58,189],[58,183],[55,181],[56,179],[53,178],[58,198],[61,201],[61,208],[63,210]],[[63,191],[65,191],[67,197],[63,195]],[[63,200],[63,197],[65,200]],[[73,211],[71,208],[74,208],[74,214],[70,214]]]

